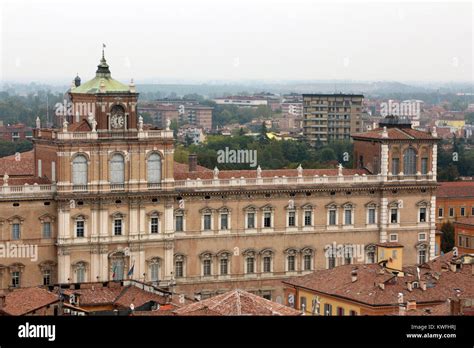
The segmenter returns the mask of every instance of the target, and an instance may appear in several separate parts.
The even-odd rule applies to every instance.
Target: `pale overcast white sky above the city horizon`
[[[0,1],[0,81],[474,80],[470,1]]]

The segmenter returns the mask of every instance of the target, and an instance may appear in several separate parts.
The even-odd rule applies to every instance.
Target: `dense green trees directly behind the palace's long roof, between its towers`
[[[219,151],[251,150],[256,151],[257,164],[262,169],[296,168],[335,168],[337,163],[352,167],[352,144],[335,142],[325,146],[311,147],[305,141],[270,140],[262,135],[259,138],[249,136],[208,136],[207,142],[189,147],[177,146],[175,160],[187,163],[190,153],[197,154],[198,163],[209,169],[218,167],[223,170],[255,169],[249,163],[218,163]]]

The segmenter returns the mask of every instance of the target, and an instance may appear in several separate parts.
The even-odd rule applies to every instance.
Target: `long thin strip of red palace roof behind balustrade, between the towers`
[[[176,168],[176,167],[175,167]],[[338,169],[303,169],[303,176],[337,176]],[[362,175],[369,174],[365,169],[343,169],[343,175]],[[282,177],[297,177],[298,171],[296,169],[271,169],[271,170],[262,170],[262,178],[273,178],[275,176]],[[175,180],[186,180],[186,179],[212,179],[214,173],[212,170],[207,169],[206,171],[198,172],[185,172],[185,173],[174,173]],[[257,170],[221,170],[219,171],[219,179],[230,179],[230,178],[257,178]]]

